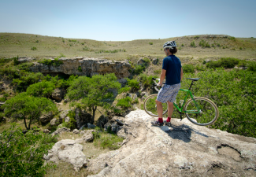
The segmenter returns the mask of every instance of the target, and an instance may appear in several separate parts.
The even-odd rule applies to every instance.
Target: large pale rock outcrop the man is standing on
[[[115,151],[91,159],[94,176],[256,176],[256,139],[200,127],[187,119],[153,127],[143,110],[130,112]],[[117,132],[118,134],[118,132]]]

